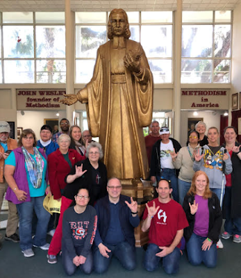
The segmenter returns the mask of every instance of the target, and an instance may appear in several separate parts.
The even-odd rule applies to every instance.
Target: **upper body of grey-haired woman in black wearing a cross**
[[[81,186],[88,187],[89,204],[93,206],[97,199],[107,194],[107,170],[106,165],[100,161],[103,151],[98,142],[91,142],[88,145],[85,156],[87,157],[85,161],[76,163],[65,178],[67,183],[71,183],[71,186],[66,187],[65,195],[68,195],[67,190],[71,191],[70,193],[76,193]]]

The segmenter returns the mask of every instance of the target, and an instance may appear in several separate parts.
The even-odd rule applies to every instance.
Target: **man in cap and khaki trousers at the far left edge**
[[[6,193],[8,184],[4,179],[4,164],[5,160],[17,148],[17,141],[9,137],[10,126],[8,122],[0,121],[0,209],[3,204],[3,196]],[[6,228],[6,240],[11,240],[14,243],[19,242],[19,236],[16,234],[19,218],[17,215],[17,208],[12,202],[8,202],[8,224]],[[1,239],[0,239],[1,248]]]

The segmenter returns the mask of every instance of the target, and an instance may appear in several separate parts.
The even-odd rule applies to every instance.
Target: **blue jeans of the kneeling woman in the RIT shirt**
[[[82,249],[83,247],[75,247],[77,256],[81,255]],[[65,245],[62,245],[62,263],[66,274],[73,275],[77,267],[76,265],[74,265],[73,260],[70,259],[69,253],[67,251],[67,247]],[[79,265],[79,268],[85,274],[90,274],[92,272],[93,269],[92,250],[90,250],[90,252],[88,253],[85,263],[83,265]]]

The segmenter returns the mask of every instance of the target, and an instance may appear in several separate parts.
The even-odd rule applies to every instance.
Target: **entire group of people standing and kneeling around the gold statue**
[[[67,119],[60,121],[60,128],[52,137],[51,127],[42,126],[38,141],[31,129],[24,129],[17,143],[9,138],[9,124],[0,122],[0,201],[6,192],[9,207],[6,240],[19,242],[25,257],[34,256],[33,247],[48,250],[49,263],[62,256],[67,275],[77,267],[85,273],[106,272],[112,256],[133,270],[134,228],[140,224],[137,202],[121,194],[119,179],[108,180],[101,145],[89,131],[83,138]],[[219,146],[217,128],[209,128],[207,136],[205,132],[206,124],[197,123],[187,146],[181,147],[169,138],[167,127],[154,121],[145,138],[156,187],[141,223],[142,231],[149,231],[143,262],[148,271],[162,260],[165,272],[176,273],[183,237],[190,263],[209,268],[217,265],[221,237],[241,242],[238,133],[226,127],[225,145]],[[60,215],[44,209],[45,195],[61,202]]]

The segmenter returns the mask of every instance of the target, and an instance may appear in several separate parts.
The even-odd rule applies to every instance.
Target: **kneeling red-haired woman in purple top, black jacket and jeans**
[[[209,188],[205,172],[197,171],[192,177],[183,209],[189,222],[189,227],[184,229],[184,237],[190,263],[200,265],[203,262],[208,268],[215,268],[222,212],[217,195]]]

